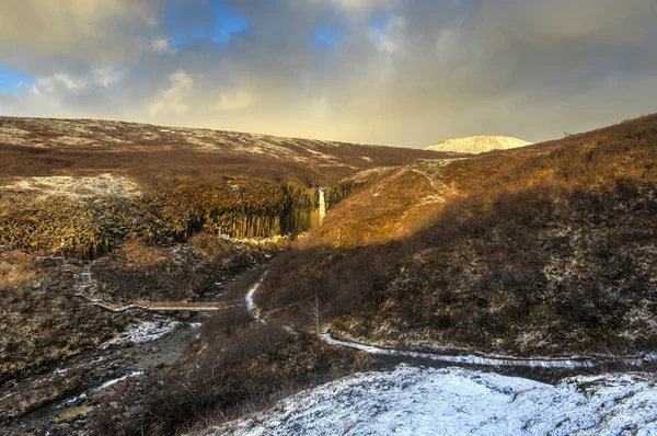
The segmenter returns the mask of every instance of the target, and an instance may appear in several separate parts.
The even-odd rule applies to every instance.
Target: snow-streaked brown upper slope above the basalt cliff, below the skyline
[[[447,157],[448,154],[443,154]],[[150,124],[0,117],[0,180],[125,172],[148,182],[162,173],[214,182],[217,175],[331,185],[368,168],[435,153],[394,147],[164,127]]]

